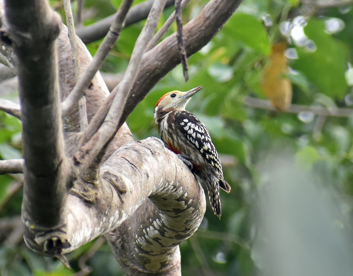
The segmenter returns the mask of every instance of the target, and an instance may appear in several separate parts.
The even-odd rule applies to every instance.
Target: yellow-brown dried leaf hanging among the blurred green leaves
[[[287,78],[288,64],[285,50],[285,43],[272,46],[272,53],[261,78],[264,95],[270,99],[275,108],[281,111],[287,110],[292,102],[292,84]]]

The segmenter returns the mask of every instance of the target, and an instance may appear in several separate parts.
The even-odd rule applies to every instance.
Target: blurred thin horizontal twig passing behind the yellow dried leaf
[[[244,100],[244,104],[255,108],[278,111],[271,105],[271,102],[269,100],[263,100],[254,97],[246,97]],[[324,108],[322,106],[308,106],[299,104],[292,104],[285,112],[298,114],[303,111],[311,112],[314,115],[336,117],[349,117],[353,113],[353,109],[351,108]]]

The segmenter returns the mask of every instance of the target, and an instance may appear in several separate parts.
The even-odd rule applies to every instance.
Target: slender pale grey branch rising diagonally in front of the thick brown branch
[[[92,139],[90,139],[88,143],[82,146],[80,151],[74,155],[74,158],[76,159],[75,161],[78,162],[81,166],[81,172],[85,171],[86,168],[90,165],[91,161],[97,157],[98,153],[100,153],[108,146],[109,141],[118,131],[119,119],[124,110],[124,105],[128,93],[130,92],[131,87],[136,79],[147,43],[150,41],[152,34],[156,29],[158,20],[163,11],[165,1],[166,0],[154,1],[146,24],[135,43],[135,47],[131,55],[131,60],[127,66],[124,77],[120,84],[114,88],[114,90],[116,90],[116,95],[113,99],[112,105],[110,106],[105,121],[101,125],[100,129],[92,136]],[[87,131],[89,131],[89,129],[90,128],[88,128]]]

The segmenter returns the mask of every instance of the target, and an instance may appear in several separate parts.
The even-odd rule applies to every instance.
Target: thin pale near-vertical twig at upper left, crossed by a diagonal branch
[[[77,37],[75,33],[75,26],[73,24],[70,0],[63,0],[63,1],[64,1],[64,10],[65,10],[67,28],[68,28],[68,38],[71,44],[74,73],[75,73],[75,78],[77,83],[77,81],[81,76],[80,51],[79,51]],[[80,119],[80,129],[81,131],[85,131],[88,125],[88,121],[87,121],[87,110],[86,110],[86,97],[84,96],[84,94],[78,101],[78,110],[79,110],[78,114]]]

